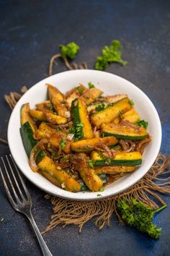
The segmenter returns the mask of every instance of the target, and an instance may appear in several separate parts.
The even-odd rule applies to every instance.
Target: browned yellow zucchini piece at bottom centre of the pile
[[[79,168],[78,169],[81,178],[84,180],[84,183],[91,191],[97,192],[101,189],[103,182],[100,177],[95,174],[94,169],[92,168]]]

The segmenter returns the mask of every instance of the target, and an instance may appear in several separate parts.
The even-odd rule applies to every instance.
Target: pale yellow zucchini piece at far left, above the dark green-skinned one
[[[30,116],[29,111],[30,111],[30,103],[23,104],[20,110],[21,125],[23,125],[28,121],[30,124],[30,127],[32,128],[32,132],[35,132],[37,127],[34,119],[32,119],[32,117]]]

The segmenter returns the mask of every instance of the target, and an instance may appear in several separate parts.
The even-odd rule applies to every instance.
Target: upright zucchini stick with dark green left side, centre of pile
[[[89,118],[86,114],[86,104],[80,98],[71,103],[71,115],[73,116],[73,127],[71,133],[77,139],[94,137]]]

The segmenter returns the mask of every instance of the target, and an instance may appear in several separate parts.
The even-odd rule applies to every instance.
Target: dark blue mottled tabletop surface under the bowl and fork
[[[6,138],[10,110],[3,101],[9,91],[30,88],[48,76],[50,56],[58,53],[60,43],[75,41],[80,46],[76,61],[93,68],[100,49],[112,39],[123,44],[126,67],[112,64],[108,72],[118,74],[141,88],[155,104],[161,118],[161,152],[169,154],[170,81],[170,1],[0,1],[0,137]],[[58,72],[66,70],[58,62]],[[8,148],[0,145],[0,155]],[[33,216],[45,229],[52,210],[44,192],[27,182]],[[170,197],[164,196],[170,205]],[[16,213],[0,182],[0,255],[41,255],[30,224]],[[61,226],[46,234],[53,255],[170,255],[170,206],[156,216],[163,231],[158,241],[149,239],[128,226],[120,227],[113,218],[109,228],[99,231],[87,223],[79,234],[76,226]]]

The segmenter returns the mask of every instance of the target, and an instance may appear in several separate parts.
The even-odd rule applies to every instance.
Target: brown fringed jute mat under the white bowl
[[[58,58],[61,58],[61,54],[56,54],[50,59],[49,75],[53,73],[53,65]],[[76,63],[70,65],[66,58],[63,59],[63,61],[70,70],[87,69],[85,62],[80,65]],[[26,91],[27,88],[24,86],[22,87],[21,93],[13,92],[4,96],[6,103],[8,103],[11,109],[14,108],[19,98],[21,98],[22,94]],[[0,139],[0,142],[8,144],[8,142],[3,139]],[[50,229],[55,228],[55,226],[59,224],[63,226],[74,224],[79,226],[79,231],[81,231],[84,223],[91,219],[99,229],[102,229],[104,226],[109,226],[114,214],[117,216],[120,224],[122,224],[122,218],[117,211],[117,202],[119,202],[122,197],[125,197],[128,202],[130,198],[133,197],[135,200],[142,201],[151,208],[156,209],[165,204],[161,197],[163,194],[170,194],[170,156],[159,153],[153,166],[151,166],[147,174],[143,176],[138,183],[114,197],[84,202],[45,195],[45,198],[51,202],[53,215],[51,216],[49,225],[42,234],[50,231]]]

